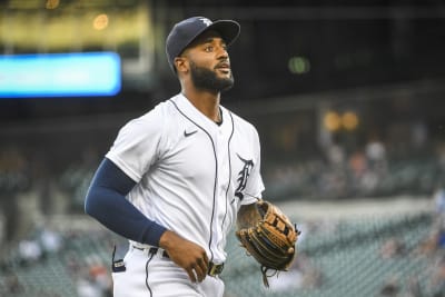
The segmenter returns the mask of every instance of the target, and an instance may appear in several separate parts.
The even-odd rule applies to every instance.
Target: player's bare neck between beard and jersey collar
[[[198,109],[202,115],[215,122],[221,120],[219,115],[220,93],[207,91],[188,91],[184,96]]]

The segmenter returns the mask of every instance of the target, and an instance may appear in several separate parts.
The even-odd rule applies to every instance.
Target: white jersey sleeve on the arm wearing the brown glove
[[[261,178],[261,151],[260,151],[260,142],[257,130],[251,126],[251,143],[253,150],[255,152],[255,161],[249,178],[246,184],[246,192],[251,196],[245,196],[241,205],[250,205],[257,201],[257,198],[263,197],[263,191],[265,190],[265,186]]]

